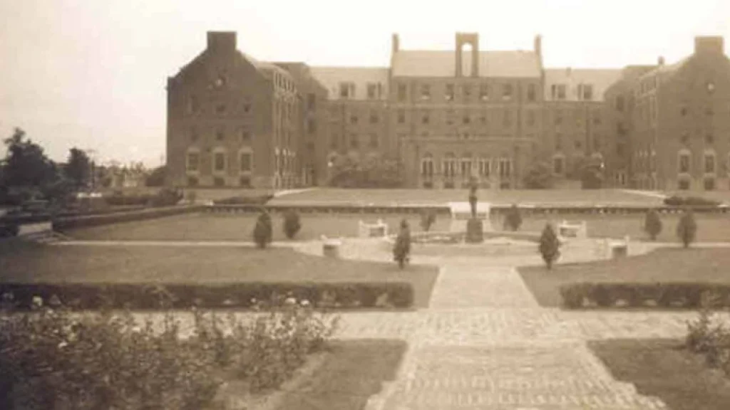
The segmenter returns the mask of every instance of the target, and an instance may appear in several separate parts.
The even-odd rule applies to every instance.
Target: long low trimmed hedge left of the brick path
[[[0,295],[12,295],[18,309],[30,309],[34,296],[71,309],[201,309],[283,306],[287,298],[307,300],[315,308],[408,308],[413,288],[406,282],[274,283],[215,285],[153,284],[0,284]]]

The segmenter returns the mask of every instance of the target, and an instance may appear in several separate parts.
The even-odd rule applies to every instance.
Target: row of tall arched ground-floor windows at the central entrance
[[[420,160],[421,177],[429,179],[437,174],[436,165],[437,161],[434,161],[433,155],[426,153]],[[472,158],[470,156],[456,158],[453,154],[447,154],[441,160],[441,171],[447,178],[457,175],[464,178],[489,177],[492,171],[496,171],[499,177],[509,178],[512,172],[512,160],[510,158]]]

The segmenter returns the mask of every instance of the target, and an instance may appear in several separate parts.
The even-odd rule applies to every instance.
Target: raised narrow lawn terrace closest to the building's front
[[[661,198],[622,190],[480,190],[493,204],[661,204]],[[469,190],[377,190],[316,188],[274,198],[269,204],[445,204],[467,201]]]

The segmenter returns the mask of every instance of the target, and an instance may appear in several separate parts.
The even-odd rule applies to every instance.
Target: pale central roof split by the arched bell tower
[[[471,68],[472,53],[463,54]],[[393,55],[393,77],[455,77],[456,51],[401,50]],[[540,77],[539,56],[532,51],[480,51],[479,77]]]

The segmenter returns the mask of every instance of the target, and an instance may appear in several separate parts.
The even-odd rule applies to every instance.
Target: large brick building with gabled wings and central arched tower
[[[531,50],[481,50],[457,33],[450,51],[406,50],[388,67],[264,63],[235,33],[208,33],[201,55],[168,80],[170,183],[323,185],[336,154],[401,163],[408,187],[520,187],[539,161],[575,178],[588,157],[610,185],[728,186],[730,61],[698,37],[673,65],[545,68]],[[675,135],[676,134],[676,135]],[[660,144],[661,141],[661,144]],[[719,184],[719,185],[718,185]]]

